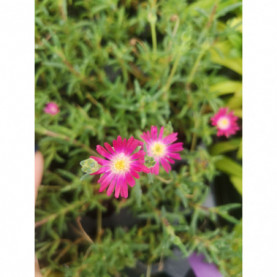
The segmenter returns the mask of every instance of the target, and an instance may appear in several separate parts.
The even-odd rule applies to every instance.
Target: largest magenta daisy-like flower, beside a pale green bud
[[[105,159],[91,156],[102,167],[92,173],[103,174],[98,183],[100,183],[99,192],[107,189],[107,195],[111,195],[115,189],[115,197],[128,197],[128,185],[133,187],[135,179],[139,178],[138,172],[149,173],[150,170],[144,165],[145,152],[142,150],[143,143],[133,137],[123,139],[118,136],[113,140],[113,147],[105,142],[104,147],[97,145],[96,151]],[[140,147],[138,150],[137,147]]]

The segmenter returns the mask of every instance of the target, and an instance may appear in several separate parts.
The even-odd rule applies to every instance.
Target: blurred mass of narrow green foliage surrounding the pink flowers
[[[184,257],[203,253],[224,276],[242,276],[241,220],[232,215],[241,202],[205,206],[219,174],[242,194],[241,132],[217,138],[210,124],[220,107],[242,117],[241,14],[238,0],[36,1],[43,276],[126,276],[138,261],[150,276],[174,247]],[[60,108],[54,116],[43,112],[50,101]],[[142,175],[126,200],[99,193],[97,176],[80,179],[80,162],[96,145],[118,135],[139,139],[168,122],[185,146],[169,174]],[[103,227],[122,209],[139,223]],[[95,220],[94,231],[84,217]]]

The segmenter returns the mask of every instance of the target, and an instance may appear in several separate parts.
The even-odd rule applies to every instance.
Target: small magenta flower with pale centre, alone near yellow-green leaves
[[[238,130],[237,116],[233,111],[228,112],[228,108],[220,108],[219,111],[211,118],[213,126],[217,128],[217,136],[225,136],[228,138],[234,135]]]

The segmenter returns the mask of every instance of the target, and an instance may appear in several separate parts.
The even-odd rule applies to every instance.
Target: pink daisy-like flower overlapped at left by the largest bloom
[[[156,164],[150,168],[152,174],[159,174],[160,163],[168,173],[171,170],[170,164],[174,164],[174,160],[181,160],[179,151],[182,151],[183,143],[177,142],[178,133],[171,133],[163,137],[164,127],[160,129],[158,134],[157,126],[152,126],[151,131],[147,131],[141,135],[141,138],[146,142],[147,155],[153,157]]]

